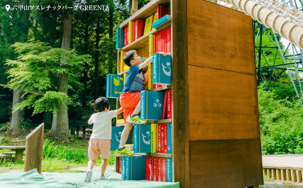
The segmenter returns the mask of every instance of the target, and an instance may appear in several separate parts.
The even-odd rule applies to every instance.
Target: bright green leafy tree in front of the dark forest
[[[27,43],[15,43],[12,46],[15,47],[19,56],[18,60],[8,60],[6,63],[6,65],[12,67],[7,71],[9,77],[12,78],[8,82],[8,86],[12,88],[20,87],[27,95],[24,101],[15,106],[15,110],[22,110],[26,106],[31,106],[34,108],[33,114],[45,111],[54,111],[56,114],[60,114],[60,110],[67,112],[67,104],[71,102],[71,98],[67,95],[67,92],[64,92],[64,89],[73,89],[73,87],[68,82],[59,81],[58,84],[58,80],[53,78],[67,79],[64,76],[70,74],[73,83],[81,85],[75,81],[74,75],[83,70],[83,65],[90,61],[90,56],[78,55],[74,49],[52,48],[47,43],[33,40]],[[64,61],[64,64],[62,61]],[[32,90],[39,92],[29,93]],[[56,139],[66,139],[68,119],[67,130],[65,130],[66,122],[65,124],[59,124],[59,121],[64,122],[60,119],[64,116],[57,115],[57,117],[57,127],[52,130],[54,136]],[[58,126],[63,128],[61,129]],[[58,130],[65,132],[57,134]]]

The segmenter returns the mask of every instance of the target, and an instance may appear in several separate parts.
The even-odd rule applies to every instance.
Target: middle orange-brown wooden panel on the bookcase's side
[[[259,139],[256,77],[188,65],[189,140]]]

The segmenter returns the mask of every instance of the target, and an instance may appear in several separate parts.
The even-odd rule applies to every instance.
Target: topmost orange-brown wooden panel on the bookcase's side
[[[256,73],[250,16],[203,0],[187,6],[189,65]]]

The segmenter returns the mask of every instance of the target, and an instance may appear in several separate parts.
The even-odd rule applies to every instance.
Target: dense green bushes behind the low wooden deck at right
[[[282,91],[263,89],[258,87],[262,153],[302,153],[303,108],[298,101],[282,99]]]

